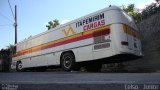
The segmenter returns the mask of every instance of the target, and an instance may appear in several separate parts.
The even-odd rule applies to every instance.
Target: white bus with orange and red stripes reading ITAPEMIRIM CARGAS
[[[99,70],[108,62],[142,56],[138,29],[131,16],[111,6],[88,14],[16,45],[12,69],[61,66],[65,71],[85,66]]]

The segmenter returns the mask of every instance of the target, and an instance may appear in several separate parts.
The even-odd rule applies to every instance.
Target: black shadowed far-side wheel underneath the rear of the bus
[[[85,68],[88,72],[100,72],[102,68],[102,64],[88,65],[88,66],[85,66]]]

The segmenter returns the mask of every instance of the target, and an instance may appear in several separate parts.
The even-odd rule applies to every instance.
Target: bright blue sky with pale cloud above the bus
[[[135,4],[143,9],[154,0],[9,0],[13,13],[17,5],[18,42],[47,30],[47,22],[72,21],[109,5]],[[14,44],[14,18],[8,0],[0,0],[0,49]]]

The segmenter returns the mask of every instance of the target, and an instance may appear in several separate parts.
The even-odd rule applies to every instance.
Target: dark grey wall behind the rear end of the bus
[[[142,35],[144,57],[126,62],[127,69],[160,71],[160,13],[137,24]]]

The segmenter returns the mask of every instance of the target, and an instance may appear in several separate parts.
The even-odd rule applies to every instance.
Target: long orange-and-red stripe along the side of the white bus
[[[79,33],[79,34],[76,34],[76,35],[73,35],[73,36],[69,36],[69,37],[66,37],[66,38],[62,38],[62,39],[51,41],[51,42],[48,42],[48,43],[45,43],[45,44],[41,44],[41,45],[38,45],[38,46],[34,46],[32,48],[25,49],[25,50],[17,52],[13,57],[18,57],[18,56],[29,54],[29,53],[32,53],[32,52],[36,52],[36,51],[40,51],[40,50],[44,50],[44,49],[48,49],[48,48],[53,48],[53,47],[56,47],[56,46],[65,45],[65,44],[68,44],[68,43],[72,43],[72,42],[76,42],[76,41],[80,41],[80,40],[84,40],[84,39],[88,39],[88,38],[92,38],[92,37],[95,37],[95,35],[93,33],[96,32],[96,31],[101,31],[101,33],[103,33],[103,34],[105,34],[105,33],[108,34],[108,32],[110,32],[110,26],[97,28],[97,29],[94,29],[94,30],[90,30],[90,31],[87,31],[87,32],[82,32],[82,33]],[[99,35],[97,35],[97,36],[99,36]]]

